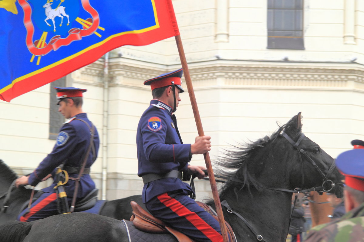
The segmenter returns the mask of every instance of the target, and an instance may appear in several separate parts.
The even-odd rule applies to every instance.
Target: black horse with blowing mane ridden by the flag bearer
[[[223,214],[238,241],[285,241],[292,192],[314,187],[329,190],[333,186],[331,192],[335,192],[337,197],[343,196],[342,185],[339,185],[342,176],[333,165],[334,160],[301,132],[300,113],[272,136],[266,136],[242,148],[235,148],[227,151],[226,156],[217,164],[220,166],[219,171],[228,180],[220,192]],[[213,201],[208,204],[214,207]],[[64,215],[46,218],[47,221],[44,219],[8,224],[0,228],[0,238],[4,242],[23,241],[28,234],[24,241],[32,241],[30,238],[36,237],[44,239],[37,241],[54,241],[55,238],[64,241],[66,237],[84,234],[84,229],[96,227],[102,222],[102,216],[92,215],[98,217],[99,221],[96,223],[85,220],[85,216],[89,215],[83,215],[83,218],[79,216],[80,219],[77,219],[78,215],[72,214],[72,219],[77,221],[75,227],[60,216]],[[105,218],[105,223],[107,221],[110,218]],[[122,233],[119,241],[127,242],[129,238],[123,223],[127,222],[111,222],[113,227],[120,227],[122,230],[119,231]],[[52,224],[62,226],[68,231],[67,235],[53,231]],[[104,241],[102,236],[97,238]]]

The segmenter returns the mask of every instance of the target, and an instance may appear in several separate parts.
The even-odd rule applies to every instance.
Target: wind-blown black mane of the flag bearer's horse
[[[288,123],[280,126],[270,137],[265,136],[257,141],[249,140],[249,143],[246,144],[233,145],[232,150],[225,149],[224,156],[219,156],[215,162],[215,165],[218,165],[215,170],[219,175],[242,180],[242,186],[236,186],[236,182],[229,180],[221,187],[220,194],[231,187],[234,190],[241,190],[244,187],[248,187],[248,189],[255,187],[261,190],[259,182],[250,174],[250,167],[257,166],[254,164],[254,161],[259,160],[253,157],[258,156],[264,147],[276,140],[282,131],[288,134],[293,140],[297,140],[297,137],[301,135],[302,127],[301,122],[297,123],[297,121],[297,115],[295,115]],[[301,117],[299,121],[301,121]]]

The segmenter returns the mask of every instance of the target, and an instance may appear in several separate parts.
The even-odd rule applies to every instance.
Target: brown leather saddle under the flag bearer
[[[205,209],[208,213],[210,213],[216,220],[218,220],[216,213],[210,206],[203,204],[202,202],[197,202],[197,204],[201,208]],[[181,232],[172,229],[171,227],[167,226],[163,221],[155,218],[153,215],[151,215],[141,206],[139,206],[139,204],[137,204],[135,201],[131,201],[130,205],[133,210],[133,215],[131,216],[130,221],[133,222],[134,226],[137,227],[137,229],[146,233],[171,233],[172,235],[174,235],[178,242],[194,242],[185,234],[182,234]],[[227,233],[230,236],[230,242],[236,242],[236,238],[231,226],[226,221],[225,224],[227,227]]]

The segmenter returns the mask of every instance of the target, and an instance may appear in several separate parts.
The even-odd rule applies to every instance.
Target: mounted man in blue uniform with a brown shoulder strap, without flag
[[[90,146],[92,127],[91,121],[87,118],[87,114],[82,111],[82,93],[86,89],[78,89],[74,87],[55,87],[57,90],[57,98],[59,100],[58,111],[69,119],[61,127],[56,144],[50,154],[38,165],[38,167],[29,176],[21,176],[15,181],[15,185],[36,186],[40,181],[53,177],[53,184],[47,188],[43,188],[40,197],[32,203],[30,210],[25,209],[18,216],[18,220],[27,222],[46,218],[55,214],[59,214],[59,194],[54,189],[58,183],[56,167],[63,164],[76,172],[69,172],[70,180],[64,185],[64,190],[67,194],[67,202],[71,205],[71,201],[75,190],[75,179],[78,176],[80,165],[86,157],[84,164],[86,169],[89,169],[97,157],[99,149],[99,135],[94,127],[94,138],[91,146],[93,148],[89,153],[87,149]],[[83,121],[82,121],[83,120]],[[84,123],[85,122],[85,123]],[[48,175],[49,174],[49,175]],[[81,200],[88,193],[95,189],[95,183],[91,179],[88,172],[83,173],[79,181],[79,189],[75,194],[77,200]]]

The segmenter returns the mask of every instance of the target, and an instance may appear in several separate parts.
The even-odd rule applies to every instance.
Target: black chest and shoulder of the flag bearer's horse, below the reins
[[[256,188],[226,190],[221,201],[226,200],[230,208],[244,217],[266,242],[285,241],[289,227],[292,193]],[[246,240],[252,232],[235,214],[223,207],[225,220],[232,226],[238,241]],[[251,238],[251,237],[249,237]],[[252,241],[256,241],[253,236]]]

